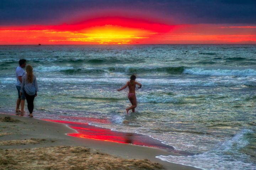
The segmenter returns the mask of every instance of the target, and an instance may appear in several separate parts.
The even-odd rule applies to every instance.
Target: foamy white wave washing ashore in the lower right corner
[[[239,152],[249,144],[245,134],[252,133],[252,130],[242,130],[231,140],[225,141],[211,151],[193,156],[157,156],[163,161],[193,166],[204,170],[255,170],[256,164],[251,163],[250,157]]]

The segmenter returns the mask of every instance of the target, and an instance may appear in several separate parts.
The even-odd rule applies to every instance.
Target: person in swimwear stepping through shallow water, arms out
[[[135,112],[135,107],[137,107],[137,99],[136,99],[136,95],[135,95],[136,84],[139,85],[139,89],[142,87],[142,84],[135,81],[135,79],[136,79],[136,76],[132,75],[130,77],[130,81],[127,81],[125,86],[123,86],[121,89],[117,90],[117,91],[121,91],[121,90],[125,89],[127,86],[129,87],[128,99],[132,103],[132,106],[129,108],[126,108],[127,114],[130,109],[132,109],[132,112]]]

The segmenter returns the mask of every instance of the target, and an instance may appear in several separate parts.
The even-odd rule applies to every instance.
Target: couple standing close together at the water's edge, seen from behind
[[[18,99],[16,102],[16,114],[21,112],[21,116],[24,115],[25,99],[27,100],[28,111],[30,112],[29,117],[33,117],[34,109],[34,98],[37,96],[37,79],[33,74],[33,68],[31,65],[26,67],[26,72],[23,68],[26,67],[26,60],[22,59],[19,61],[19,66],[16,68],[16,88],[18,90]],[[21,110],[20,110],[21,105]]]

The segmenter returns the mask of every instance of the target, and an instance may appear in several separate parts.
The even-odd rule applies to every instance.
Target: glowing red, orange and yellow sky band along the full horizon
[[[56,26],[0,26],[0,45],[9,44],[256,44],[256,27],[101,17]]]

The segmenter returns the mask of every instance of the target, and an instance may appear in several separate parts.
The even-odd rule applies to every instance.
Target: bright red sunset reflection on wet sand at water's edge
[[[151,138],[146,135],[113,131],[106,128],[100,128],[98,126],[92,126],[87,123],[78,123],[78,122],[63,121],[63,120],[50,120],[50,119],[43,119],[43,120],[52,121],[56,123],[63,123],[77,131],[77,133],[67,134],[69,136],[100,140],[100,141],[108,141],[108,142],[130,143],[134,145],[158,147],[158,148],[171,149],[171,150],[174,149],[172,146],[165,145],[161,143],[161,141],[155,140],[154,138]]]

